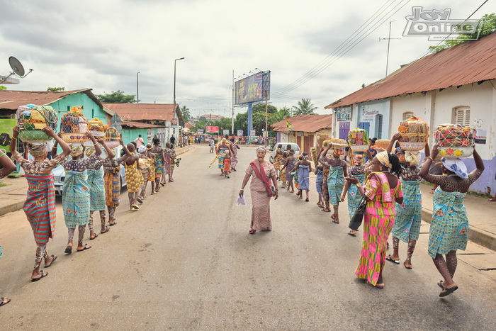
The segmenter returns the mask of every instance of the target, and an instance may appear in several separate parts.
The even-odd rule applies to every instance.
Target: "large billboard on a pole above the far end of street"
[[[235,82],[235,104],[259,102],[271,99],[271,72],[257,72]]]

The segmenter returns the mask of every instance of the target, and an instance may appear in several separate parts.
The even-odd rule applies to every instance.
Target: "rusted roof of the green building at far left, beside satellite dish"
[[[100,101],[96,99],[96,96],[91,92],[91,89],[77,89],[73,91],[12,91],[4,90],[0,91],[0,109],[6,109],[9,111],[16,111],[19,106],[26,105],[28,103],[33,103],[35,105],[46,106],[71,94],[84,93],[91,100],[93,100],[98,106],[101,105]]]

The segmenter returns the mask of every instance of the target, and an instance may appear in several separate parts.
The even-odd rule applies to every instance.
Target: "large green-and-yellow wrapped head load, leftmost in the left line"
[[[52,138],[43,131],[49,126],[57,130],[57,113],[50,106],[28,104],[17,108],[19,139],[25,142],[47,142]]]

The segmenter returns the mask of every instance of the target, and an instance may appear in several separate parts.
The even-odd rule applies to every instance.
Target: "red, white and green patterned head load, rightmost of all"
[[[459,124],[439,124],[434,130],[434,142],[439,154],[446,159],[469,157],[473,153],[475,129]]]

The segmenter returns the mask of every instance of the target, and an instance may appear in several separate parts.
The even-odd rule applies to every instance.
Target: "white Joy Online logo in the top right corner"
[[[407,26],[403,35],[427,35],[429,40],[443,40],[475,33],[480,20],[453,20],[449,18],[450,13],[449,8],[444,11],[424,11],[423,7],[412,7],[412,15],[405,17]]]

